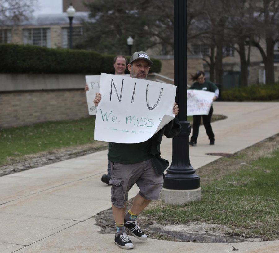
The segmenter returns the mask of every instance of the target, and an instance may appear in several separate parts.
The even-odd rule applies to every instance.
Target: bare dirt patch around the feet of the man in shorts
[[[132,199],[127,201],[127,210],[132,205]],[[152,201],[148,208],[163,206],[161,200]],[[100,227],[101,234],[115,234],[115,222],[112,209],[105,210],[95,215],[96,225]],[[207,243],[232,243],[232,242],[261,242],[261,238],[247,238],[235,235],[231,228],[224,225],[208,224],[203,222],[188,222],[174,225],[167,220],[164,224],[158,224],[156,220],[148,216],[140,215],[138,218],[140,228],[144,230],[148,238],[177,241],[177,242],[207,242]],[[130,232],[127,232],[132,236]]]

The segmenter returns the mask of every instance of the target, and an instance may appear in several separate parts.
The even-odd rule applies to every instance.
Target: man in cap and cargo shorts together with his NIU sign
[[[148,81],[148,84],[143,86],[143,83],[147,83],[144,80],[152,64],[148,54],[143,51],[135,52],[128,64],[130,77],[134,79],[123,77],[122,81],[119,81],[118,76],[113,78],[110,75],[101,74],[100,93],[96,94],[94,100],[95,106],[99,105],[95,138],[98,136],[109,141],[108,159],[112,165],[109,183],[112,185],[112,210],[117,228],[114,243],[123,249],[134,247],[130,237],[126,235],[126,229],[139,240],[147,240],[147,236],[140,229],[136,219],[151,200],[160,197],[163,172],[169,165],[168,161],[160,156],[163,134],[167,138],[172,138],[181,130],[179,121],[175,118],[178,114],[178,105],[174,103],[175,95],[172,101],[167,99],[168,95],[175,94],[171,91],[174,87],[171,87],[169,92],[165,92],[164,89],[167,87],[159,87],[157,82],[153,84]],[[110,82],[109,90],[107,90],[107,82]],[[130,85],[126,85],[129,83]],[[131,86],[130,90],[128,86]],[[141,92],[143,87],[144,93]],[[130,96],[129,102],[126,102],[124,99],[128,96]],[[144,106],[141,107],[148,108],[148,115],[144,112],[144,108],[136,108],[135,104],[143,101]],[[125,106],[125,108],[122,107],[123,111],[119,109],[121,104]],[[113,106],[109,107],[109,105]],[[160,107],[165,108],[166,115],[161,117],[158,114],[157,119],[154,111],[157,114],[160,112]],[[149,117],[151,112],[153,116]],[[153,135],[149,137],[150,133]],[[142,139],[141,142],[140,139]],[[117,142],[111,142],[111,140],[117,140]],[[125,214],[128,191],[135,183],[140,191],[134,198],[132,207]]]

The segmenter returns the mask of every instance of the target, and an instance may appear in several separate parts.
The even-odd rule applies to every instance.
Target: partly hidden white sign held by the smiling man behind
[[[129,76],[129,75],[125,75]],[[88,112],[90,115],[96,115],[97,106],[94,105],[93,101],[96,93],[100,90],[100,78],[101,75],[86,75],[85,81],[88,85],[89,90],[86,91],[86,100],[88,106]]]

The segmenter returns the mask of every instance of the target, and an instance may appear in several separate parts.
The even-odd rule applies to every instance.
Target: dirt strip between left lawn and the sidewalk
[[[82,145],[78,147],[65,147],[47,152],[39,152],[37,154],[26,155],[20,158],[13,158],[9,161],[9,164],[0,166],[0,176],[45,166],[51,163],[68,160],[78,156],[84,156],[97,151],[105,150],[107,148],[107,142],[94,142],[92,144]]]

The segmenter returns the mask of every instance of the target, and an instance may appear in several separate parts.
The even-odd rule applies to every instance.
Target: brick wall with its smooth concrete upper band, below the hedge
[[[0,74],[0,128],[88,117],[84,75]]]

